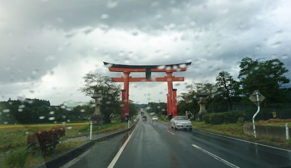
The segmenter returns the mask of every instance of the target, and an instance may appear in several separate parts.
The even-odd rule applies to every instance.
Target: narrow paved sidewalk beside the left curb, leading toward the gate
[[[132,127],[132,125],[134,125],[137,121],[129,121],[129,128]],[[101,138],[101,137],[104,137],[106,135],[110,135],[112,133],[116,133],[116,132],[119,132],[119,131],[123,131],[123,130],[126,130],[128,129],[128,124],[121,127],[121,128],[117,128],[116,130],[113,130],[113,131],[108,131],[108,132],[104,132],[104,133],[96,133],[96,134],[93,134],[92,135],[92,140],[95,140],[95,139],[98,139],[98,138]],[[94,131],[94,130],[93,130]],[[87,141],[89,140],[90,137],[89,136],[82,136],[82,137],[75,137],[75,138],[70,138],[70,139],[66,139],[64,140],[63,142],[70,142],[70,141]]]

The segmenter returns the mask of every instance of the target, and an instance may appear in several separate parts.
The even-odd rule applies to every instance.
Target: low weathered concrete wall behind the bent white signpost
[[[265,138],[280,138],[286,139],[286,128],[285,127],[278,127],[278,126],[262,126],[262,125],[255,125],[255,130],[257,137],[265,137]],[[291,129],[289,129],[290,135]],[[244,124],[244,133],[246,135],[254,136],[254,130],[252,124]]]

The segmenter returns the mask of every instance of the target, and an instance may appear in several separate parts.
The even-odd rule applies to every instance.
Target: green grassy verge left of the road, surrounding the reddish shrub
[[[113,121],[110,124],[102,126],[93,126],[94,133],[103,133],[114,131],[118,128],[127,125],[127,123],[120,123]],[[0,127],[0,167],[32,167],[44,160],[47,161],[54,158],[76,146],[79,146],[87,141],[71,141],[63,142],[66,139],[88,136],[90,134],[90,126],[86,123],[70,123],[65,125],[66,135],[60,138],[60,142],[54,151],[45,155],[44,158],[36,158],[26,152],[26,138],[28,132],[36,132],[35,130],[47,130],[54,126],[62,126],[62,124],[36,124],[25,126],[1,126]],[[2,153],[1,153],[2,152]],[[4,153],[5,152],[5,153]],[[26,156],[19,158],[19,156]],[[25,160],[25,161],[24,161]],[[24,163],[24,162],[25,163]],[[24,165],[22,165],[24,163]]]

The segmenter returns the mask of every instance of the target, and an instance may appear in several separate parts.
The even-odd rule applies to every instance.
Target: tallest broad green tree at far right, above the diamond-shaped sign
[[[267,103],[282,103],[286,100],[286,92],[283,89],[290,79],[285,77],[286,69],[284,63],[279,59],[259,62],[249,57],[242,59],[239,67],[240,94],[249,96],[254,90],[259,90]]]

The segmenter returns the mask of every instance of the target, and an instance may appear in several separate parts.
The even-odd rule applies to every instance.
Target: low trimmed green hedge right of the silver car
[[[207,124],[236,123],[239,117],[244,117],[243,112],[228,111],[203,115],[202,119]]]

